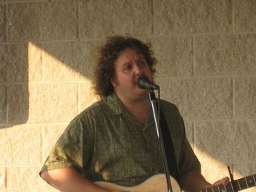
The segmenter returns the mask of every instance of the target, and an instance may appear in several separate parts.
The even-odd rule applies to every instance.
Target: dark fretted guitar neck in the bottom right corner
[[[239,180],[233,180],[227,185],[216,185],[210,188],[201,189],[198,192],[236,192],[246,188],[252,188],[256,185],[256,174],[252,174],[248,177],[241,178]]]

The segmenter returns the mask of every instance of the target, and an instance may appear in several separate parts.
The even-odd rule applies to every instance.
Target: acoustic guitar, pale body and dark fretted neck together
[[[173,177],[170,177],[170,183],[172,185],[173,192],[181,192],[181,188]],[[140,185],[135,185],[133,187],[124,187],[121,185],[116,185],[108,182],[95,182],[95,184],[106,188],[110,191],[129,191],[129,192],[166,192],[167,185],[165,180],[165,174],[156,174],[150,177],[145,182]],[[197,192],[235,192],[241,191],[246,188],[252,188],[256,185],[256,174],[250,175],[248,177],[241,178],[239,180],[234,180],[232,183],[227,185],[215,185],[209,188],[203,188]]]

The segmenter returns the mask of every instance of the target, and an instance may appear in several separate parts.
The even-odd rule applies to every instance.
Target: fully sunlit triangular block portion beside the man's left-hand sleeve
[[[67,128],[67,124],[46,125],[42,131],[42,159],[43,162],[48,157],[50,150],[53,148],[61,134]],[[42,163],[43,163],[42,162]]]

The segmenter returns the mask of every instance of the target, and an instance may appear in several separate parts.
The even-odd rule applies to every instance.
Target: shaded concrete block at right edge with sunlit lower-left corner
[[[244,125],[247,126],[241,126]],[[197,157],[202,163],[255,161],[255,121],[195,122]],[[204,152],[204,153],[202,153]]]

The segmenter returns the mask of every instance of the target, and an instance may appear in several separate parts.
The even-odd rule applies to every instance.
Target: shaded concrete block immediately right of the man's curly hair
[[[156,77],[191,77],[193,73],[192,37],[150,39],[157,58]]]

